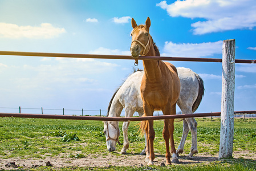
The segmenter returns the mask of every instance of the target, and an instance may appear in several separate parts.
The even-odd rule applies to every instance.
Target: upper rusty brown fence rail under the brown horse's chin
[[[42,53],[42,52],[15,52],[0,51],[0,55],[12,56],[41,56],[41,57],[61,57],[61,58],[95,58],[95,59],[133,59],[127,55],[94,55],[94,54],[62,54],[62,53]],[[218,58],[187,58],[187,57],[165,57],[165,56],[143,56],[139,60],[172,60],[186,62],[222,62]],[[256,63],[256,60],[235,59],[235,63]]]

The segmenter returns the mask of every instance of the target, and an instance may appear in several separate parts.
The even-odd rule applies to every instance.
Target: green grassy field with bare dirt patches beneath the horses
[[[256,119],[235,119],[233,157],[220,161],[220,119],[197,122],[198,154],[193,160],[185,160],[191,146],[189,133],[181,164],[160,166],[165,162],[163,121],[155,121],[155,165],[148,167],[145,156],[139,155],[144,139],[137,132],[138,122],[129,127],[128,154],[119,154],[120,145],[108,152],[101,121],[1,117],[0,170],[256,170]],[[182,122],[175,123],[176,148],[181,135]],[[123,142],[122,134],[119,140]]]

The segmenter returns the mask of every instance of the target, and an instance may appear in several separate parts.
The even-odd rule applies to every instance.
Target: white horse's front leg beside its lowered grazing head
[[[125,106],[125,117],[132,117],[133,113],[135,112],[135,109],[132,109],[131,107]],[[123,123],[123,135],[124,135],[124,145],[123,148],[120,151],[120,154],[126,154],[126,150],[129,148],[129,140],[128,140],[128,127],[130,122],[124,122]]]

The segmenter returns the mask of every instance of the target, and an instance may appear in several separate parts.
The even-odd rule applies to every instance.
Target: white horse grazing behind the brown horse
[[[177,67],[177,71],[181,83],[180,96],[177,101],[178,107],[180,107],[182,114],[193,113],[201,103],[202,96],[204,96],[204,82],[198,74],[188,68]],[[139,116],[143,115],[143,101],[140,92],[143,74],[144,71],[141,70],[134,72],[116,90],[108,105],[108,117],[120,117],[123,108],[125,109],[125,117],[132,117],[135,112],[138,112]],[[124,146],[120,154],[125,154],[129,148],[128,126],[129,121],[123,123]],[[183,152],[189,130],[192,133],[192,147],[186,158],[192,159],[193,154],[197,153],[197,121],[193,117],[183,120],[183,134],[176,154]],[[109,152],[116,150],[115,146],[117,142],[119,143],[120,136],[119,123],[116,121],[104,121],[104,133]],[[147,141],[145,143],[147,144]],[[145,148],[141,154],[145,154]]]

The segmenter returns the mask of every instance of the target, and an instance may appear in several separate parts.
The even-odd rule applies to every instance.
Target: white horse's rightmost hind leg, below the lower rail
[[[192,146],[190,148],[190,153],[185,159],[192,160],[193,154],[197,153],[197,121],[192,118],[186,118],[188,127],[192,135]]]

